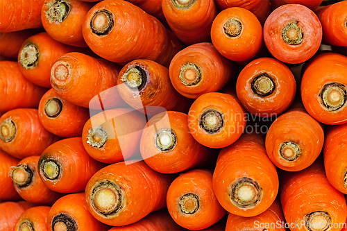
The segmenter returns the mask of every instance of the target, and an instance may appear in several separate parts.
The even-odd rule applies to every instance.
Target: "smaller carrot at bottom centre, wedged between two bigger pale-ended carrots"
[[[183,173],[171,183],[167,209],[178,225],[189,230],[208,228],[226,215],[213,192],[212,171],[205,169]]]

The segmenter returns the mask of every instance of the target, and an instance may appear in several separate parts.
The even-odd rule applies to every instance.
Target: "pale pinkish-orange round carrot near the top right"
[[[321,40],[319,18],[303,5],[280,6],[271,12],[264,24],[265,45],[282,62],[305,62],[318,51]]]

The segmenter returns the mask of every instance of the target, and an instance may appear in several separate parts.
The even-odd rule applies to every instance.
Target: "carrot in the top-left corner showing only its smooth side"
[[[41,28],[41,8],[44,0],[3,0],[0,4],[0,32]]]

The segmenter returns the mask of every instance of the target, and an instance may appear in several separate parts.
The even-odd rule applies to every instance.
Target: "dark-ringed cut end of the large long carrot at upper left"
[[[109,10],[99,10],[95,12],[90,20],[90,28],[92,33],[103,36],[108,35],[115,25],[115,19]]]

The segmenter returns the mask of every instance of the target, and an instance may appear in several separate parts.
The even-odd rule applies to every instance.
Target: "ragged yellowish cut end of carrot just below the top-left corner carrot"
[[[39,60],[39,49],[35,44],[27,43],[19,55],[19,63],[25,69],[33,69]]]

